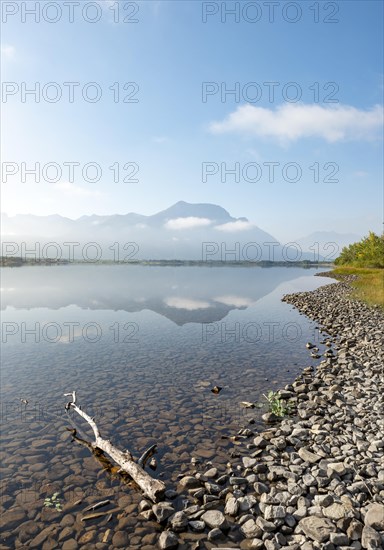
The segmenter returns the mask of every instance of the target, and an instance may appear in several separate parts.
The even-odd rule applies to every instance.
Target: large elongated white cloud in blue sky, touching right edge
[[[237,133],[295,141],[319,137],[333,143],[373,139],[383,125],[380,105],[364,111],[349,105],[304,105],[286,103],[275,110],[242,105],[221,122],[209,126],[213,134]]]

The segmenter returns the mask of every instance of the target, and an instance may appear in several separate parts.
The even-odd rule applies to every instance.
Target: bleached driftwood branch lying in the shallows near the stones
[[[153,479],[153,477],[145,472],[142,467],[142,465],[145,466],[146,460],[148,460],[148,458],[152,456],[152,454],[155,452],[155,449],[153,449],[153,447],[156,448],[156,446],[150,447],[143,454],[138,464],[133,460],[133,457],[128,450],[120,451],[119,449],[114,447],[114,445],[112,445],[109,440],[103,439],[100,436],[99,429],[94,419],[91,418],[86,412],[81,410],[81,407],[76,404],[75,391],[72,393],[65,393],[64,395],[72,398],[72,400],[66,404],[66,410],[68,411],[69,409],[73,409],[91,426],[95,436],[95,441],[92,443],[92,447],[97,447],[98,449],[101,449],[107,455],[109,455],[120,466],[120,471],[126,472],[135,481],[135,483],[137,483],[137,485],[148,498],[150,498],[153,502],[157,502],[164,494],[165,485],[162,481],[158,479]]]

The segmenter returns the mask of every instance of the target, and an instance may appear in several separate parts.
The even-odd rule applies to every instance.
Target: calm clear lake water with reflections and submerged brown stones
[[[315,273],[297,267],[2,268],[3,510],[16,503],[26,519],[48,525],[56,516],[47,515],[43,500],[53,490],[65,510],[79,495],[92,502],[128,493],[132,507],[140,499],[71,442],[63,394],[73,390],[102,436],[118,447],[140,456],[157,443],[155,475],[167,484],[188,471],[192,456],[224,466],[234,445],[222,436],[262,425],[265,411],[240,402],[262,401],[263,393],[316,363],[305,348],[318,341],[316,324],[281,302],[283,294],[331,282]],[[211,392],[216,385],[218,395]],[[135,536],[137,525],[148,529],[135,521]],[[130,547],[135,544],[141,543],[132,539]]]

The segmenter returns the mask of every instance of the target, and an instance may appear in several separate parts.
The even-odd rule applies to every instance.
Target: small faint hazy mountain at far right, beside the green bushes
[[[305,252],[312,252],[313,257],[320,255],[327,260],[337,258],[345,246],[360,241],[363,235],[354,233],[336,233],[335,231],[315,231],[307,237],[296,239],[296,243]]]

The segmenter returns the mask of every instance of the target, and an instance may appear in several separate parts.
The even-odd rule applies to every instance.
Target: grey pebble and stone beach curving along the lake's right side
[[[164,526],[160,548],[384,548],[384,315],[350,292],[344,278],[284,296],[319,323],[313,346],[325,359],[280,390],[294,415],[242,431],[237,465],[194,463],[177,491],[183,510],[172,491],[140,503]]]

